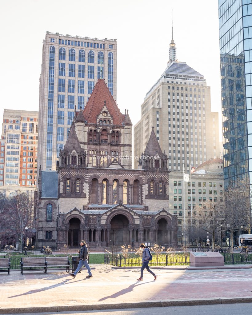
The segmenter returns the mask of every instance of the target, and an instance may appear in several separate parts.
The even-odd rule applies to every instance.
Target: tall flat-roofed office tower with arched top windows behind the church
[[[39,94],[39,165],[57,170],[74,108],[84,108],[95,82],[104,78],[116,99],[116,39],[46,33]]]

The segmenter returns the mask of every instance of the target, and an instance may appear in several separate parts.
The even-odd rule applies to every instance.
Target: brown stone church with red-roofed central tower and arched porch
[[[99,79],[84,110],[75,109],[59,170],[39,170],[36,245],[91,248],[177,245],[168,211],[168,157],[154,130],[132,169],[132,123]]]

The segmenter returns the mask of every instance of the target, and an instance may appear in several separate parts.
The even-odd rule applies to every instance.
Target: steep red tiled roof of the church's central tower
[[[97,117],[104,108],[104,101],[106,101],[106,108],[113,119],[113,125],[122,125],[123,114],[120,112],[113,96],[111,95],[104,79],[99,79],[95,84],[93,92],[87,102],[83,116],[88,123],[97,123]],[[78,117],[77,117],[78,118]]]

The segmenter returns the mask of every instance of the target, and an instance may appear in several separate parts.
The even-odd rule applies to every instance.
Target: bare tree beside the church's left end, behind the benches
[[[34,198],[26,192],[19,192],[9,200],[9,220],[12,233],[19,240],[19,250],[22,250],[25,227],[33,225]]]

